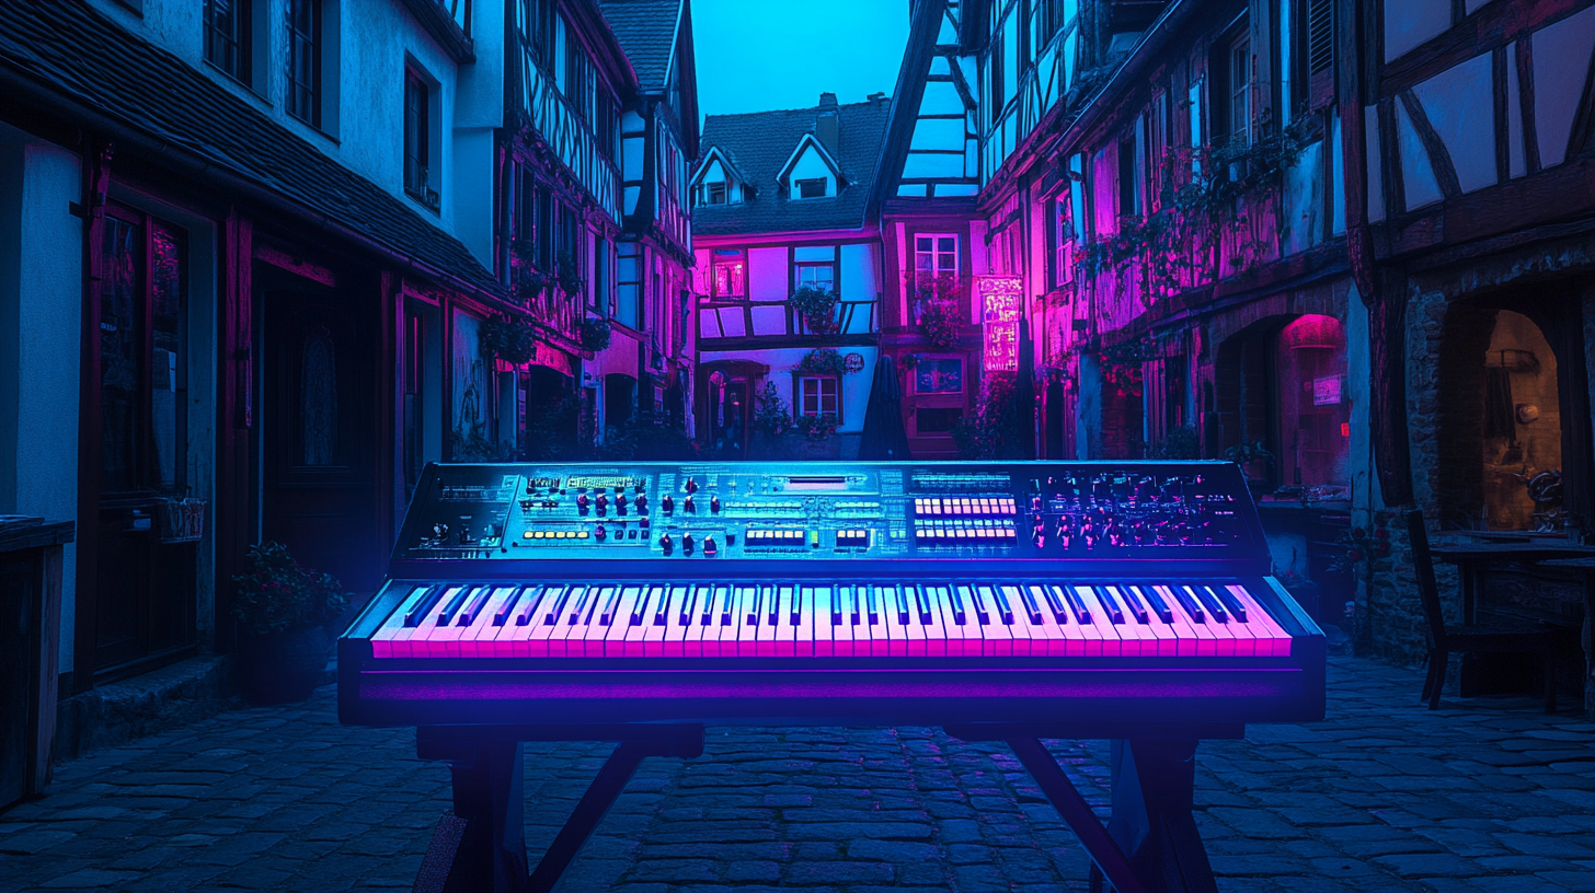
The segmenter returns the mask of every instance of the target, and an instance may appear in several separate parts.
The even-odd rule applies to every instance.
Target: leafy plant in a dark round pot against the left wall
[[[327,668],[329,625],[348,592],[330,574],[301,568],[281,542],[252,545],[246,566],[233,577],[244,694],[250,703],[305,700]]]

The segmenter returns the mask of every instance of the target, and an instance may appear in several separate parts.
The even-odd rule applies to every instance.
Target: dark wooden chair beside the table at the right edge
[[[1407,533],[1412,537],[1412,558],[1418,571],[1418,595],[1423,596],[1423,612],[1429,620],[1429,676],[1423,683],[1423,697],[1429,710],[1440,708],[1440,689],[1445,687],[1445,663],[1451,654],[1539,654],[1546,667],[1546,713],[1557,711],[1557,652],[1574,644],[1574,631],[1544,624],[1518,624],[1499,627],[1447,625],[1440,611],[1440,587],[1434,582],[1434,558],[1429,555],[1429,533],[1423,526],[1423,512],[1407,512]]]

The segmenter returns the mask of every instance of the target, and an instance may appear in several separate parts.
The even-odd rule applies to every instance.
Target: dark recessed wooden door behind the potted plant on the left
[[[375,474],[378,332],[359,295],[263,297],[262,539],[356,593],[381,582]]]

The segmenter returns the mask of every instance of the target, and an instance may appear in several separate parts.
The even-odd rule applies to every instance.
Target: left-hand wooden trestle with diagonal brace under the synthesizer
[[[691,724],[421,726],[415,740],[416,756],[448,761],[455,781],[455,813],[439,821],[415,882],[429,893],[553,890],[644,757],[703,753],[703,727]],[[530,874],[522,742],[616,742]]]

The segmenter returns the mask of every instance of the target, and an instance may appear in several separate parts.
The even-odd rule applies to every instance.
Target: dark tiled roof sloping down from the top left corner
[[[81,0],[6,3],[0,16],[0,65],[466,285],[502,295],[502,287],[466,246],[402,199]]]

